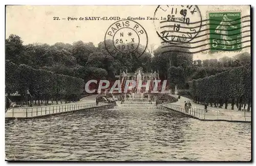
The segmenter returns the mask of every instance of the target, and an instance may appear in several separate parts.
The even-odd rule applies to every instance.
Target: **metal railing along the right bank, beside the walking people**
[[[166,108],[174,109],[203,120],[228,120],[228,121],[251,121],[250,111],[216,110],[207,112],[201,108],[187,108],[187,110],[176,104],[162,104]]]

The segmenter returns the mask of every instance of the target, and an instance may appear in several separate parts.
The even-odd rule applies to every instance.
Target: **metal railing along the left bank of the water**
[[[76,111],[87,108],[96,108],[99,106],[111,105],[109,103],[79,103],[67,105],[52,105],[41,107],[12,108],[12,111],[6,112],[6,117],[34,117],[40,115],[55,114],[60,112]]]

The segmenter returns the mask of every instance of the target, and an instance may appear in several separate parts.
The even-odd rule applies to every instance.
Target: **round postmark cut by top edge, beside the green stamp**
[[[154,25],[158,36],[172,44],[188,43],[202,27],[201,12],[196,5],[163,5],[155,10]]]

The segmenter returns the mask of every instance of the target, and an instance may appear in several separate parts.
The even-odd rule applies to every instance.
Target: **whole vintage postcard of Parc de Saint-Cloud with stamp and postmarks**
[[[6,6],[6,160],[251,161],[250,12]]]

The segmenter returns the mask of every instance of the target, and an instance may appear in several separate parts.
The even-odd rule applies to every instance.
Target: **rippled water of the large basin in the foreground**
[[[6,158],[244,161],[251,158],[251,124],[144,108],[6,120]]]

